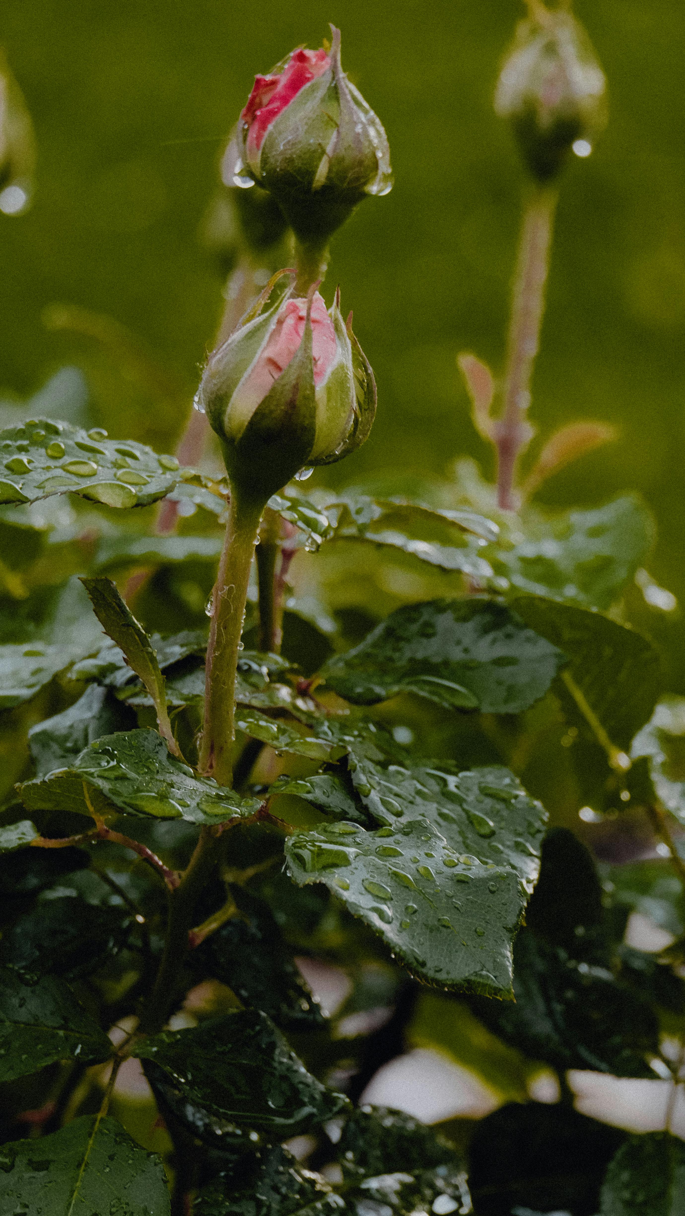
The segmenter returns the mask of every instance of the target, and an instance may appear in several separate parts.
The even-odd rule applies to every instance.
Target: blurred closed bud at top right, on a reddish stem
[[[499,75],[494,108],[509,118],[533,178],[551,181],[568,151],[591,151],[606,123],[606,80],[590,40],[565,10],[536,0],[516,30]]]

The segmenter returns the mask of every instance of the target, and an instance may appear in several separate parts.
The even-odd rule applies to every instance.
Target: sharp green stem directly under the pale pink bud
[[[236,670],[262,506],[232,492],[211,599],[199,771],[220,786],[230,786],[233,775]]]

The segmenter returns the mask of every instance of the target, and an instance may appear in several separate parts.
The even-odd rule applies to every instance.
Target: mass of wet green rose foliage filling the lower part
[[[0,449],[0,1212],[162,1216],[153,1147],[202,1216],[589,1216],[601,1184],[604,1216],[678,1211],[680,1142],[627,1138],[570,1100],[519,1090],[459,1150],[352,1105],[412,1019],[458,1062],[471,1019],[491,1069],[516,1055],[561,1077],[670,1075],[679,944],[622,942],[632,911],[684,934],[680,885],[667,858],[617,863],[611,834],[685,823],[685,714],[658,702],[658,655],[617,607],[651,545],[645,508],[513,523],[464,479],[451,505],[272,499],[290,542],[322,553],[300,559],[311,595],[302,580],[288,602],[283,654],[256,648],[248,612],[227,789],[198,773],[196,742],[226,488],[60,422],[7,429]],[[163,496],[185,512],[174,535],[151,528]],[[136,501],[137,518],[118,514]],[[341,602],[330,569],[350,546],[384,570],[390,553],[420,590],[380,620],[356,587]],[[583,806],[602,820],[604,885],[576,835],[545,837]],[[136,1030],[168,900],[217,828],[175,1018]],[[333,1015],[295,959],[342,969]],[[97,1114],[108,1075],[136,1060],[142,1131],[117,1086]]]

